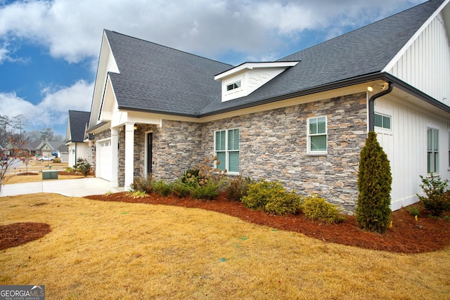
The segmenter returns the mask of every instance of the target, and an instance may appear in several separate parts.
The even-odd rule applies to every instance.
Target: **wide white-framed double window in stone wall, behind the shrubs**
[[[215,131],[214,150],[220,162],[217,169],[239,172],[239,129]]]

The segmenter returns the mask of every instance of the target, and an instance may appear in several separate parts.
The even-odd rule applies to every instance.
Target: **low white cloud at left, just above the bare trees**
[[[10,119],[24,115],[28,121],[27,130],[53,128],[58,134],[65,133],[69,110],[91,110],[94,84],[77,81],[72,86],[59,89],[46,88],[42,91],[43,100],[34,105],[15,93],[0,93],[0,107],[8,107],[1,115]]]

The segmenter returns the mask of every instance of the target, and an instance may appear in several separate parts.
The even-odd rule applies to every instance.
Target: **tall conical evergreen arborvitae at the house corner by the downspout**
[[[377,133],[370,131],[361,150],[358,173],[356,221],[364,230],[384,233],[389,226],[391,184],[389,160],[377,141]]]

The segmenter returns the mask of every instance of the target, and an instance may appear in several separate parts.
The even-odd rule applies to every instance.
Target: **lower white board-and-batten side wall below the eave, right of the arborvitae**
[[[392,172],[392,209],[397,210],[418,201],[422,193],[419,175],[428,173],[428,128],[439,129],[439,175],[450,180],[450,120],[437,118],[393,96],[375,101],[375,112],[391,117],[391,130],[375,126],[378,142],[390,160]]]

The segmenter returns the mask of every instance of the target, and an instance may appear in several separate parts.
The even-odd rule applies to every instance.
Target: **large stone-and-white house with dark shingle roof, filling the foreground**
[[[420,175],[450,179],[449,1],[237,67],[105,30],[89,121],[96,176],[128,189],[217,155],[231,175],[354,211],[359,153],[375,130],[392,209],[417,202]]]

